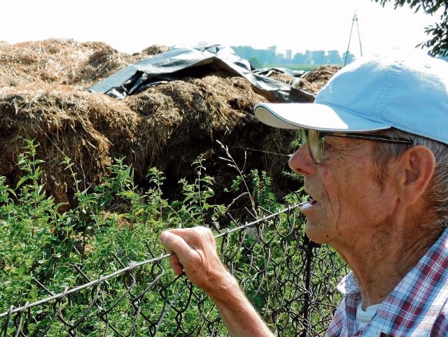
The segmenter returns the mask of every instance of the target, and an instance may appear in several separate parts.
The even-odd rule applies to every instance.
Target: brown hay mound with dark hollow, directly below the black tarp
[[[253,92],[243,78],[224,73],[175,80],[127,96],[126,100],[142,118],[137,131],[138,148],[133,151],[139,156],[132,159],[136,175],[140,176],[157,166],[169,177],[192,178],[195,172],[191,164],[198,157],[204,157],[207,173],[216,178],[217,189],[223,190],[231,178],[235,178],[236,171],[230,173],[225,169],[227,163],[218,159],[225,153],[216,141],[239,148],[259,149],[258,142],[262,143],[262,138],[277,133],[276,129],[261,125],[253,116],[254,104],[266,99]],[[283,147],[292,140],[287,131],[283,131],[283,136],[277,134],[272,138],[283,139]],[[267,143],[263,147],[265,150],[276,148]],[[281,157],[283,162],[279,169],[278,165],[262,166],[260,158],[265,155],[260,152],[248,153],[246,161],[243,150],[232,148],[230,152],[237,152],[235,158],[241,168],[244,165],[248,169],[268,168],[267,171],[275,171],[277,176],[285,168],[284,157]],[[272,155],[268,157],[272,158]],[[276,164],[279,158],[273,157]]]

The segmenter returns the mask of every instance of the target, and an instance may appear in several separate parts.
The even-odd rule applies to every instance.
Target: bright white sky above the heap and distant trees
[[[206,42],[276,45],[293,54],[349,49],[358,57],[414,48],[428,40],[423,29],[438,18],[373,0],[14,0],[1,7],[0,41],[73,38],[127,53]]]

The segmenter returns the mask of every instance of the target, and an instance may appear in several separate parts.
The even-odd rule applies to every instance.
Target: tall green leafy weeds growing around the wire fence
[[[35,157],[37,146],[27,141],[18,161],[23,178],[15,187],[6,185],[6,178],[0,177],[0,313],[7,312],[11,305],[34,303],[139,261],[155,259],[139,267],[138,273],[120,273],[99,285],[29,309],[27,324],[20,329],[25,333],[45,331],[46,336],[65,336],[69,325],[76,325],[78,336],[105,336],[114,329],[132,336],[148,336],[148,332],[151,336],[179,336],[179,329],[195,331],[195,336],[211,336],[211,329],[214,336],[225,334],[213,303],[188,280],[176,278],[167,259],[156,259],[165,254],[160,232],[167,228],[201,224],[225,231],[241,224],[243,215],[241,219],[233,217],[228,224],[223,221],[232,205],[211,203],[214,179],[205,174],[204,159],[193,163],[197,172],[193,182],[179,181],[181,198],[169,201],[162,193],[165,176],[158,169],[149,170],[150,186],[143,190],[134,185],[132,167],[123,164],[123,159],[115,159],[111,173],[98,186],[80,190],[80,180],[66,158],[61,165],[73,178],[76,206],[62,212],[62,205],[45,194],[40,182],[43,172],[41,160]],[[284,208],[286,201],[300,199],[299,193],[287,196],[285,201],[276,200],[265,172],[240,171],[223,148],[228,155],[225,160],[236,174],[228,192],[238,194],[235,199],[246,199],[246,209],[253,217],[274,213]],[[272,329],[282,318],[274,317],[267,308],[281,306],[284,299],[277,302],[266,294],[274,294],[276,287],[286,287],[281,290],[283,296],[295,299],[296,281],[291,283],[288,273],[295,264],[304,264],[302,235],[297,236],[302,220],[290,222],[286,215],[279,219],[217,238],[218,249],[225,251],[223,260]],[[346,270],[342,261],[334,263],[339,269],[332,276],[337,278],[339,271]],[[334,271],[318,273],[320,278],[322,273]],[[274,285],[272,280],[276,281]],[[107,303],[107,308],[100,303]],[[291,308],[294,306],[298,306],[293,309],[297,313],[302,310],[302,304]],[[55,313],[64,320],[55,320]],[[289,322],[286,316],[281,324]],[[0,318],[0,327],[5,324],[2,322],[6,321]],[[6,328],[10,332],[16,329],[12,322]]]

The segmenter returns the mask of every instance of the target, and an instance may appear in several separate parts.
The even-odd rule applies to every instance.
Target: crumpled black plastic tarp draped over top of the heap
[[[122,99],[126,95],[136,94],[153,85],[186,76],[204,76],[219,70],[245,78],[251,83],[255,92],[272,102],[314,101],[315,96],[311,92],[264,76],[265,71],[252,69],[247,60],[241,59],[232,48],[223,45],[174,48],[127,66],[92,85],[88,90]],[[300,74],[292,73],[292,75]]]

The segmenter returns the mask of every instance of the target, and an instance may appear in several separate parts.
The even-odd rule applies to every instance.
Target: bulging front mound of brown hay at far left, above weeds
[[[102,94],[48,85],[45,89],[15,87],[0,91],[0,175],[17,182],[22,172],[16,163],[25,140],[39,144],[36,157],[44,161],[42,177],[55,199],[68,203],[73,178],[61,165],[73,162],[80,188],[94,185],[108,173],[113,144],[132,141],[139,116],[125,103]]]

